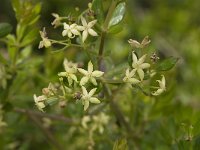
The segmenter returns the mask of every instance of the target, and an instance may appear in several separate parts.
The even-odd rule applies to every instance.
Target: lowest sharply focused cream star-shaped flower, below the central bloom
[[[94,93],[96,92],[96,88],[92,89],[88,93],[86,88],[82,86],[82,92],[83,92],[83,95],[81,97],[81,100],[82,100],[82,104],[84,105],[84,110],[88,109],[90,102],[95,103],[95,104],[100,103],[100,100],[98,100],[96,97],[92,97]]]

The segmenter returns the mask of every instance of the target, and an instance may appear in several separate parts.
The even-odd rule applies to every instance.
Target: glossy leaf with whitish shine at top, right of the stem
[[[117,7],[115,8],[115,11],[111,17],[111,20],[108,24],[108,28],[110,28],[111,26],[117,25],[118,23],[120,23],[122,21],[122,19],[124,18],[125,9],[126,9],[125,2],[119,3],[117,5]]]

